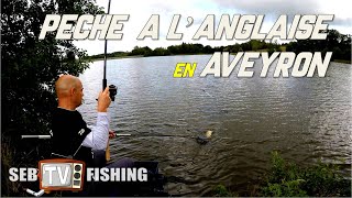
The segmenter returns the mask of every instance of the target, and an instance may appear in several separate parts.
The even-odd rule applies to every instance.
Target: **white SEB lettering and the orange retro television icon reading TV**
[[[40,188],[51,190],[82,190],[86,164],[81,161],[55,158],[38,162],[36,168],[10,168],[12,182],[40,182]]]

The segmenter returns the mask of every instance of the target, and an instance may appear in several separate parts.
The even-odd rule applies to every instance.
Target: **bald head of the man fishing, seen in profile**
[[[55,90],[59,107],[74,110],[81,105],[84,88],[77,77],[61,76],[55,84]]]

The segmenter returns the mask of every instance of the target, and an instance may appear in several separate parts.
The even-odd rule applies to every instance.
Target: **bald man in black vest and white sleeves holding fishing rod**
[[[57,79],[55,89],[58,106],[52,121],[53,157],[84,161],[87,167],[106,166],[105,150],[109,134],[110,138],[113,135],[109,132],[108,108],[111,103],[109,87],[99,94],[98,118],[92,129],[87,127],[81,114],[76,110],[84,97],[81,81],[75,76],[63,75]],[[103,155],[101,155],[102,152]],[[109,167],[133,167],[133,161],[122,158],[109,164]],[[87,190],[84,191],[87,193]],[[91,189],[88,191],[90,194]]]

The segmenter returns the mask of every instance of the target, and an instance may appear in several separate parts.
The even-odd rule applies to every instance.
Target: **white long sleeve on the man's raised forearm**
[[[92,150],[106,150],[109,140],[109,118],[107,112],[98,112],[97,125],[86,136],[82,145]]]

